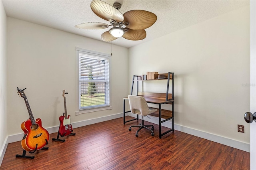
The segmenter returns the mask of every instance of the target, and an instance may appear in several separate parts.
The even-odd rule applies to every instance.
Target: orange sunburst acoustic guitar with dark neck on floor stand
[[[25,88],[26,89],[26,88]],[[23,97],[28,109],[29,119],[24,121],[20,127],[24,131],[24,137],[22,138],[21,145],[22,148],[26,151],[36,151],[42,149],[48,144],[49,133],[46,129],[42,127],[42,121],[40,118],[34,119],[30,106],[28,104],[28,99],[24,93],[24,90],[20,90],[17,87],[17,90],[20,97]]]

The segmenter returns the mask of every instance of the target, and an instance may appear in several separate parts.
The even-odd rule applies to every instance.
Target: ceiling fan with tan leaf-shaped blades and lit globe
[[[143,40],[146,38],[146,28],[152,26],[157,17],[152,12],[144,10],[131,10],[124,15],[118,10],[121,8],[119,2],[114,2],[113,6],[101,0],[93,0],[91,2],[92,11],[100,18],[110,22],[110,25],[101,22],[87,22],[78,24],[76,28],[88,30],[97,30],[110,28],[109,31],[101,35],[101,39],[106,42],[111,42],[119,37],[127,40]]]

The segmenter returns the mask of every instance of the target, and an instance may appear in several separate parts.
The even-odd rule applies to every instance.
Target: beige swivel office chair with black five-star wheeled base
[[[143,117],[147,116],[151,113],[154,113],[155,111],[157,111],[157,109],[149,109],[148,104],[147,104],[146,100],[144,99],[144,97],[128,95],[128,99],[129,99],[131,112],[142,116],[142,124],[136,125],[136,126],[130,126],[129,131],[132,130],[132,127],[139,127],[139,129],[137,130],[137,132],[135,134],[135,136],[138,137],[138,132],[140,131],[140,129],[146,128],[146,129],[150,130],[151,135],[154,136],[154,131],[153,131],[154,126],[153,125],[144,125]],[[152,127],[152,128],[150,129],[148,127]]]

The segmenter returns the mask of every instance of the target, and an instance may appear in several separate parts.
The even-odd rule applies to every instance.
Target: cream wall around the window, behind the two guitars
[[[65,89],[71,122],[80,122],[122,113],[122,97],[128,89],[128,49],[113,45],[111,63],[112,110],[75,116],[76,51],[75,47],[111,53],[111,44],[60,30],[7,17],[8,50],[8,136],[22,133],[20,124],[28,111],[17,87],[25,90],[35,118],[44,128],[59,125],[64,112],[62,89]],[[21,139],[20,139],[21,140]]]

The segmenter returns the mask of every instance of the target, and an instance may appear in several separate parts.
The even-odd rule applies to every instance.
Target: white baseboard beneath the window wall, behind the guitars
[[[81,122],[74,122],[74,123],[72,122],[72,127],[73,128],[83,127],[86,125],[109,121],[109,120],[117,119],[120,117],[123,117],[123,113],[118,113],[115,115],[109,115],[109,116],[105,116],[105,117],[99,117],[99,118],[95,118],[95,119],[89,119],[89,120],[81,121]],[[46,130],[49,132],[49,134],[55,133],[55,132],[58,132],[59,126],[46,128]],[[23,138],[23,136],[24,136],[24,133],[10,135],[10,136],[8,136],[7,144],[20,141]],[[5,151],[4,151],[4,153],[5,153]]]

